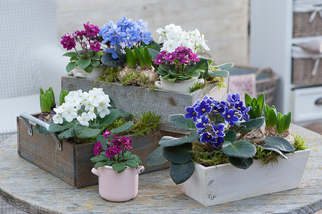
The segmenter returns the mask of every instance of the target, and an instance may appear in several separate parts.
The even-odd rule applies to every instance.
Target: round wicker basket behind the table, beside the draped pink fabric
[[[258,77],[260,74],[266,74],[269,77],[259,79]],[[277,76],[269,67],[257,69],[255,75],[257,97],[260,96],[261,93],[264,93],[266,105],[271,106],[275,95],[276,82],[279,79],[279,76]]]

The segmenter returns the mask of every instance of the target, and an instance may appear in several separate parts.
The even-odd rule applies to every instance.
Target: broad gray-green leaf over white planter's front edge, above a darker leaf
[[[245,140],[239,140],[233,144],[229,141],[223,142],[222,145],[223,153],[241,158],[250,158],[256,153],[256,147]]]

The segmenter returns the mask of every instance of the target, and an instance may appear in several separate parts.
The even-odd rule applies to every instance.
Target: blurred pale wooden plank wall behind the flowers
[[[155,40],[156,29],[170,23],[185,31],[197,28],[208,40],[204,56],[216,64],[248,65],[248,0],[56,0],[56,7],[59,38],[82,30],[88,21],[102,27],[125,15],[147,21]]]

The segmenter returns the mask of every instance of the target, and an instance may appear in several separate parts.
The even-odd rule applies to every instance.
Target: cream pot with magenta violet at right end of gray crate
[[[185,80],[176,80],[175,82],[170,82],[166,79],[160,79],[160,81],[156,81],[154,85],[157,88],[168,90],[168,91],[175,91],[180,93],[190,93],[191,87],[194,86],[194,83],[199,82],[200,84],[204,84],[204,79],[198,79],[197,77],[193,77],[191,79]]]

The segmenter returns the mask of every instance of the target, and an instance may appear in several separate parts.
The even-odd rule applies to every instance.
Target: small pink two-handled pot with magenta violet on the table
[[[109,201],[127,201],[137,196],[139,173],[144,166],[137,169],[127,167],[123,172],[117,173],[111,166],[92,168],[93,174],[99,176],[99,195]]]

